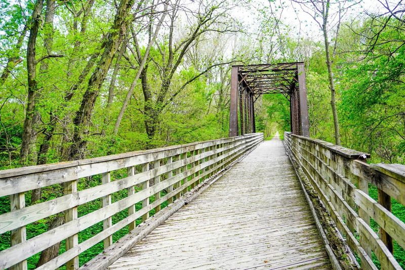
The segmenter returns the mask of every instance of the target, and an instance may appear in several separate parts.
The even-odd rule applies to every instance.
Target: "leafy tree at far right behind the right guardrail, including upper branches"
[[[342,82],[348,147],[374,152],[376,162],[405,160],[405,21],[401,1],[380,2],[379,13],[346,27]]]

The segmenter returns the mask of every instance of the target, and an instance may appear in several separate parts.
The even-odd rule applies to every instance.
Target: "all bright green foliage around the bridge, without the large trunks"
[[[257,17],[257,27],[249,25],[254,30],[239,21],[230,20],[232,14],[229,11],[220,16],[219,22],[211,25],[212,31],[203,27],[204,32],[192,40],[185,55],[179,60],[167,93],[163,94],[162,85],[169,77],[170,65],[166,65],[169,55],[173,53],[172,57],[177,59],[181,51],[171,51],[169,43],[178,42],[174,48],[179,49],[176,46],[189,40],[195,22],[183,22],[182,17],[187,16],[176,17],[174,39],[171,41],[170,29],[167,25],[162,26],[165,29],[159,33],[147,59],[146,82],[151,97],[145,102],[146,95],[139,79],[115,134],[115,120],[139,68],[136,42],[132,31],[129,31],[124,56],[119,61],[116,57],[112,60],[104,83],[100,89],[96,89],[100,94],[96,98],[90,123],[75,126],[72,120],[82,106],[83,95],[95,64],[90,65],[88,73],[84,74],[84,71],[91,63],[92,56],[97,56],[93,61],[98,63],[98,54],[104,52],[103,36],[108,35],[116,10],[113,4],[96,0],[92,9],[85,14],[81,12],[85,2],[58,2],[53,29],[46,25],[39,29],[36,59],[48,54],[63,57],[49,58],[37,64],[36,120],[33,125],[30,165],[35,165],[38,158],[43,157],[46,157],[47,163],[68,160],[75,128],[88,130],[84,137],[87,142],[85,156],[89,158],[227,137],[231,64],[212,65],[231,61],[232,64],[305,61],[311,137],[335,141],[323,41],[317,40],[315,34],[297,37],[294,34],[296,29],[283,22],[281,16],[274,16],[283,9],[278,6],[275,9],[260,7],[254,11],[247,7]],[[274,5],[275,2],[270,3]],[[229,5],[215,1],[211,4],[207,10],[214,13],[222,11],[223,5]],[[10,1],[0,0],[2,74],[8,61],[13,60],[10,75],[0,85],[0,169],[21,166],[20,148],[27,108],[26,47],[29,32],[25,33],[21,48],[18,48],[17,43],[19,36],[23,34],[24,25],[29,22],[33,5],[32,1],[14,5]],[[42,11],[43,17],[45,8]],[[147,11],[142,12],[144,13]],[[88,16],[87,23],[85,15]],[[148,19],[149,16],[139,18],[131,25],[140,44],[141,55],[146,51],[144,45],[147,43],[149,30],[145,26],[149,23]],[[152,23],[152,28],[155,23],[156,21]],[[402,24],[392,16],[371,16],[350,23],[342,22],[337,39],[331,41],[331,47],[336,44],[337,49],[332,68],[335,74],[342,145],[371,153],[371,161],[374,163],[405,164],[405,30]],[[223,29],[231,33],[226,33]],[[52,48],[45,48],[44,40],[49,34],[52,36]],[[44,68],[43,64],[48,68]],[[116,65],[116,82],[113,92],[109,93],[112,72]],[[110,94],[112,102],[107,106]],[[148,106],[154,115],[148,114]],[[290,130],[290,105],[286,97],[278,94],[264,95],[256,101],[255,110],[256,129],[264,132],[266,139],[272,138],[277,132],[282,138],[283,132]],[[156,132],[149,136],[146,122],[152,116],[155,116],[153,120],[156,120]],[[49,151],[38,156],[41,146],[51,133]],[[121,171],[116,172],[113,178],[125,176],[126,172]],[[80,179],[78,188],[82,190],[100,183],[100,175],[96,175]],[[40,202],[60,197],[63,193],[60,186],[44,188],[42,192]],[[375,190],[370,189],[370,194],[376,197]],[[30,196],[30,193],[26,194],[27,205],[31,204]],[[118,192],[113,194],[112,199],[116,201],[126,196],[125,191]],[[153,201],[153,197],[150,199]],[[0,197],[0,213],[9,211],[9,205],[8,197]],[[100,200],[87,203],[78,207],[79,215],[86,215],[100,207]],[[140,203],[136,207],[139,209]],[[393,213],[405,220],[405,207],[397,202],[393,202]],[[125,218],[127,214],[126,211],[117,213],[113,216],[113,222]],[[27,237],[32,238],[46,232],[50,219],[29,224]],[[378,230],[375,222],[372,225],[373,229]],[[100,222],[80,232],[79,242],[91,238],[101,230]],[[117,232],[113,235],[113,240],[116,241],[127,232],[128,228]],[[0,250],[9,247],[9,237],[10,234],[7,233],[0,237]],[[60,253],[64,249],[62,243]],[[80,255],[80,265],[102,249],[103,244],[98,243],[85,251]],[[403,266],[405,253],[396,243],[394,255]],[[30,268],[34,267],[38,258],[39,254],[36,254],[28,260]]]

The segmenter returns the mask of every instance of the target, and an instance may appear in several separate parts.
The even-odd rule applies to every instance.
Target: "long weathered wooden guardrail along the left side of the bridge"
[[[11,246],[0,251],[0,269],[26,269],[27,259],[65,240],[66,251],[43,264],[41,269],[79,267],[78,256],[99,242],[104,249],[112,244],[118,230],[136,226],[136,220],[149,218],[149,212],[160,210],[164,202],[172,203],[232,161],[263,141],[263,133],[247,134],[214,141],[171,146],[112,155],[100,158],[31,166],[0,171],[0,197],[10,196],[10,211],[0,215],[0,234],[10,233]],[[111,181],[117,170],[127,173]],[[99,185],[89,188],[78,181],[100,175]],[[86,183],[86,182],[85,182]],[[34,189],[63,185],[63,195],[30,206],[25,195]],[[135,189],[135,187],[138,187]],[[112,202],[114,193],[128,190],[128,196]],[[165,192],[164,192],[165,191]],[[150,202],[149,197],[154,196]],[[77,207],[102,199],[102,207],[78,216]],[[136,211],[135,204],[142,202]],[[112,217],[128,209],[128,216],[112,223]],[[65,222],[45,233],[27,239],[26,226],[52,215],[63,213]],[[98,222],[103,230],[79,243],[78,234]]]

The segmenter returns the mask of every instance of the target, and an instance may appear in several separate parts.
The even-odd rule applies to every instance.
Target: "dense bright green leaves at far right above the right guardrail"
[[[362,27],[381,27],[366,22]],[[389,25],[381,39],[393,40],[373,48],[366,56],[342,68],[342,103],[340,111],[348,147],[371,152],[373,161],[405,163],[405,48],[396,40],[405,40],[403,31]],[[389,53],[392,52],[392,53]],[[361,138],[361,139],[360,139]]]

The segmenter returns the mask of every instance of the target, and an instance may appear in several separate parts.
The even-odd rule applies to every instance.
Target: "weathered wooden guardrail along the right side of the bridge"
[[[405,204],[405,166],[367,164],[370,155],[324,141],[285,132],[285,145],[322,203],[340,234],[361,260],[361,269],[402,269],[392,255],[393,240],[405,248],[405,224],[391,213],[391,198]],[[369,196],[369,185],[378,189],[378,202]],[[379,234],[370,227],[370,218]]]

